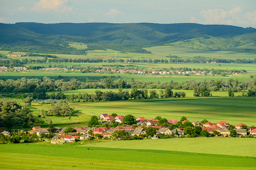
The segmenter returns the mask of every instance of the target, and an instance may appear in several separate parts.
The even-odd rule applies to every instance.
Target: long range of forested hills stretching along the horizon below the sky
[[[26,52],[85,54],[69,42],[87,44],[86,50],[110,48],[148,51],[141,47],[174,45],[203,50],[256,52],[256,29],[229,25],[153,23],[16,23],[0,24],[0,47]]]

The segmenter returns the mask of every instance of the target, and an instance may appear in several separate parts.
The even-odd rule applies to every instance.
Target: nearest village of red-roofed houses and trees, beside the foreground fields
[[[114,117],[116,116],[116,117]],[[18,132],[9,132],[0,129],[0,140],[3,138],[20,136],[24,142],[48,141],[52,144],[74,143],[82,140],[106,139],[106,140],[138,140],[138,139],[160,139],[160,138],[177,138],[177,137],[256,137],[256,127],[247,127],[240,123],[230,125],[228,122],[220,121],[216,124],[211,122],[202,123],[199,121],[189,122],[187,120],[166,120],[165,118],[145,119],[144,117],[134,118],[135,124],[129,126],[124,124],[123,116],[116,114],[101,114],[97,119],[100,125],[92,127],[54,127],[41,128],[40,126],[32,127],[32,130],[19,130]],[[183,117],[185,118],[185,117]],[[163,123],[163,121],[165,121]],[[205,121],[204,121],[205,122]],[[113,125],[116,126],[113,126]],[[163,126],[164,125],[164,126]],[[182,128],[178,128],[182,127]],[[191,131],[192,130],[192,131]],[[193,131],[194,130],[194,131]],[[194,134],[193,134],[194,133]],[[195,133],[198,133],[196,135]],[[53,137],[54,136],[54,137]],[[41,139],[40,139],[41,138]],[[7,140],[6,140],[7,141]],[[10,140],[11,141],[11,140]],[[19,142],[18,142],[19,143]]]

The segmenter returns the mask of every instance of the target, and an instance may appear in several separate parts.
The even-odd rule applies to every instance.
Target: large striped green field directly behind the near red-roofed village
[[[168,120],[180,120],[181,116],[186,116],[190,122],[207,119],[212,123],[226,121],[232,125],[243,123],[247,126],[255,126],[255,100],[255,98],[227,97],[69,103],[77,111],[70,120],[68,117],[48,116],[47,118],[53,120],[54,124],[58,126],[67,126],[78,122],[85,124],[92,115],[117,113],[123,116],[128,114],[132,114],[135,117],[143,116],[147,119],[162,116]],[[36,103],[32,103],[32,105],[31,109],[34,114],[39,114],[42,108],[47,110],[50,107],[50,105]],[[41,119],[45,120],[44,117]]]

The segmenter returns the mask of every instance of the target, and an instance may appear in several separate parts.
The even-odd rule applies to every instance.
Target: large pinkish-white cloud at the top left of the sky
[[[73,5],[68,3],[68,0],[40,0],[34,4],[34,7],[31,9],[33,11],[45,12],[70,12],[75,8]]]

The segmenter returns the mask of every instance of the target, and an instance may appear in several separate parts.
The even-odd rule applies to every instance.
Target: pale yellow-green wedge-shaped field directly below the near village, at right
[[[199,138],[171,138],[158,140],[120,140],[111,142],[92,143],[93,147],[109,147],[136,149],[143,145],[143,149],[184,151],[194,153],[225,154],[236,156],[253,156],[256,152],[251,148],[256,147],[254,138],[230,137],[199,137]],[[86,146],[86,145],[82,145]]]

